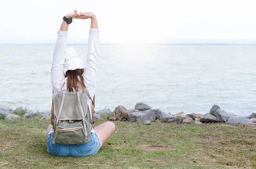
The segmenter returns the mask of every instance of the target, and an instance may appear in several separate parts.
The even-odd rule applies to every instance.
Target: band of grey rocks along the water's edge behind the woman
[[[23,107],[17,107],[15,110],[0,106],[0,118],[14,120],[17,118],[33,118],[40,115],[41,120],[50,120],[51,110],[40,111],[39,108],[34,110],[24,110]],[[142,122],[145,125],[150,125],[151,122],[156,120],[162,123],[224,123],[224,124],[250,124],[256,125],[256,111],[247,117],[242,117],[232,113],[227,113],[218,105],[213,105],[209,113],[186,114],[184,112],[172,114],[165,113],[159,109],[151,109],[148,104],[139,102],[135,105],[134,109],[127,110],[123,106],[117,106],[113,112],[110,109],[99,110],[94,113],[94,118],[99,119],[102,116],[106,116],[110,121],[130,121],[130,122]]]

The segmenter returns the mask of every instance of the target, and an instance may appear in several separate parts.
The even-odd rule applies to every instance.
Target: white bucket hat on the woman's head
[[[67,70],[83,69],[86,66],[86,62],[76,53],[73,47],[68,47],[65,50],[65,63],[64,63],[64,74],[66,75]]]

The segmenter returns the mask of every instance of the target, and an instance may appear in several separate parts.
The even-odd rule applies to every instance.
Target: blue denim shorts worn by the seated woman
[[[59,144],[54,141],[54,132],[49,134],[47,140],[47,151],[57,156],[84,157],[95,155],[100,148],[99,137],[92,132],[91,141],[84,144]]]

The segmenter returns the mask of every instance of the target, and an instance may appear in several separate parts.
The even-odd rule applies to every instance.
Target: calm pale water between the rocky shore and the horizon
[[[79,54],[87,45],[74,46]],[[54,45],[0,45],[0,104],[50,110]],[[256,110],[255,45],[100,45],[96,110],[207,113]]]

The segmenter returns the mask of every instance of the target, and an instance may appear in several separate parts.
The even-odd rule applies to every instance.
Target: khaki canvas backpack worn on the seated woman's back
[[[61,93],[55,97],[52,95],[54,141],[60,144],[84,144],[91,139],[95,96],[92,100],[81,82],[77,82],[78,92],[62,93],[64,80],[61,81]],[[87,98],[92,101],[92,117]]]

